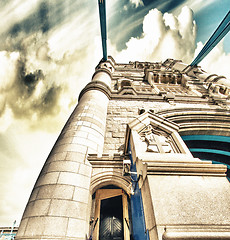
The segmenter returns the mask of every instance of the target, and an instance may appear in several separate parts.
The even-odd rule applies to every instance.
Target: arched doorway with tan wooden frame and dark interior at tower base
[[[130,240],[128,196],[123,189],[104,187],[95,193],[93,240]]]

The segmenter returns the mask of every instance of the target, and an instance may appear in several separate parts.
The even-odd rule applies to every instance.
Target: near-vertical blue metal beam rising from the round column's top
[[[107,32],[106,32],[106,6],[105,0],[98,0],[100,26],[101,26],[101,41],[103,50],[103,59],[107,60]]]

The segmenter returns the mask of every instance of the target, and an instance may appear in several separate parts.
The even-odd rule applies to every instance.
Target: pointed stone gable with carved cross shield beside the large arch
[[[127,126],[125,152],[131,144],[133,160],[191,161],[192,154],[178,134],[177,124],[152,112],[145,112]],[[153,140],[154,139],[154,140]],[[185,160],[186,159],[186,160]]]

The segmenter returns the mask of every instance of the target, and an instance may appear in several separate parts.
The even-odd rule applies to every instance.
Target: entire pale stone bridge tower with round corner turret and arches
[[[230,239],[229,90],[173,59],[100,62],[16,239]]]

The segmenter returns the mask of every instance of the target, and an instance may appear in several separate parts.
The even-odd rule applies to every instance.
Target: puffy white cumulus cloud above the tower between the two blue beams
[[[195,51],[195,39],[196,24],[191,9],[184,7],[178,17],[153,9],[144,18],[142,36],[131,38],[127,49],[115,58],[121,62],[175,58],[188,63]]]

